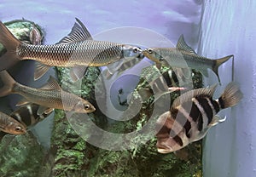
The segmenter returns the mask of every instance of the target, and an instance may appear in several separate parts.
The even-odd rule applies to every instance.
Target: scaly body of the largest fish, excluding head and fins
[[[38,60],[47,66],[104,66],[122,58],[121,45],[84,41],[58,45],[20,45],[21,60]]]

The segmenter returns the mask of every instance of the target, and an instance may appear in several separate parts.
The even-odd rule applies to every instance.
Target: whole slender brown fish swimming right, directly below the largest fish
[[[62,90],[53,77],[49,77],[48,83],[42,88],[30,88],[17,83],[8,71],[1,71],[0,78],[3,81],[0,97],[8,94],[20,94],[24,99],[20,100],[16,106],[26,105],[27,103],[38,104],[40,105],[38,115],[48,112],[52,108],[77,113],[90,113],[96,110],[88,100]]]

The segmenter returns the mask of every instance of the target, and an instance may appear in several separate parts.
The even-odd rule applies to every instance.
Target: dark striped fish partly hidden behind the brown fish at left
[[[47,111],[44,111],[42,114],[38,115],[38,109],[39,106],[37,104],[20,106],[17,110],[13,111],[9,117],[13,117],[16,121],[24,125],[25,128],[29,128],[44,120],[44,118],[48,117],[49,114],[54,110],[48,109]],[[0,140],[2,140],[5,134],[7,133],[0,132]]]

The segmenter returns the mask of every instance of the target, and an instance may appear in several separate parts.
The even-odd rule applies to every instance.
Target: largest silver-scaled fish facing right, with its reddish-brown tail
[[[143,57],[143,50],[137,46],[93,40],[84,24],[77,18],[76,21],[67,37],[49,45],[22,43],[0,21],[0,43],[7,50],[0,57],[0,71],[19,60],[36,60],[35,80],[51,66],[72,67],[71,77],[77,80],[84,75],[87,66],[108,66],[122,58]]]

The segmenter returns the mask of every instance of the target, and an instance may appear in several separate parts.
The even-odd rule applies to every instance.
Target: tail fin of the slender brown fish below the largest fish
[[[5,70],[0,72],[0,78],[3,82],[3,88],[0,88],[0,97],[11,94],[16,84],[14,78],[11,77],[8,71]]]

